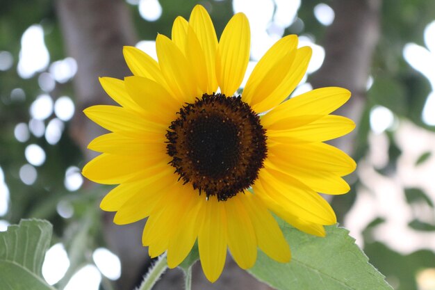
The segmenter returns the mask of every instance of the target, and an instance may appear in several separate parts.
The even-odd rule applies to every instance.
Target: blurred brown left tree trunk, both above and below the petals
[[[77,110],[70,133],[90,160],[95,153],[85,148],[90,140],[106,131],[85,118],[82,111],[88,106],[110,102],[99,84],[99,76],[123,79],[131,74],[124,62],[122,47],[135,45],[136,35],[129,10],[122,0],[58,0],[56,9],[67,54],[75,58],[78,65],[73,82]],[[147,249],[141,245],[143,226],[143,222],[117,226],[113,224],[113,214],[104,214],[106,243],[122,264],[122,276],[117,281],[119,289],[133,289],[149,263]]]

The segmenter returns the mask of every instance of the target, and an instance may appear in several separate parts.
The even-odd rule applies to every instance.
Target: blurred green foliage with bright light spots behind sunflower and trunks
[[[120,275],[116,270],[119,260],[106,250],[110,243],[103,225],[111,221],[98,207],[109,188],[83,180],[80,170],[89,153],[69,130],[83,118],[73,86],[80,62],[67,53],[56,1],[0,1],[0,230],[20,218],[49,220],[54,224],[53,244],[58,250],[54,256],[61,260],[52,262],[57,274],[46,267],[44,275],[54,273],[46,279],[73,289],[69,280],[88,265],[88,275],[97,277],[95,288],[89,289],[117,289],[120,284],[112,280]],[[320,47],[314,53],[320,54],[321,64],[322,46],[334,41],[328,40],[333,8],[344,1],[288,0],[296,14],[289,10],[288,24],[281,26],[269,19],[266,31],[272,38],[304,35]],[[105,5],[112,2],[117,1]],[[246,7],[270,2],[277,15],[286,0],[127,0],[122,4],[133,23],[138,47],[147,50],[156,33],[170,35],[174,18],[188,19],[197,3],[211,13],[220,35],[242,2]],[[331,202],[340,223],[350,228],[372,264],[395,289],[435,289],[435,97],[431,95],[435,2],[364,2],[379,2],[375,12],[379,13],[379,37],[367,60],[368,75],[361,76],[367,84],[359,96],[363,101],[355,120],[356,134],[347,140],[352,150],[343,148],[359,162],[359,170],[348,178],[352,192]],[[251,24],[255,20],[251,18]],[[363,53],[358,43],[348,46],[355,55]],[[358,69],[354,63],[343,65]],[[299,92],[311,87],[311,76],[319,78],[322,73],[325,70],[317,76],[311,72]],[[97,252],[103,252],[104,259]],[[101,261],[113,272],[104,270]],[[97,268],[89,268],[95,264]],[[140,273],[147,265],[142,265]]]

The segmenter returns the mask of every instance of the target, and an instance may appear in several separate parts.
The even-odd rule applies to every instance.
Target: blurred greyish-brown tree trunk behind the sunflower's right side
[[[381,0],[334,0],[335,19],[325,39],[325,62],[313,74],[313,88],[340,86],[352,92],[350,101],[338,109],[359,123],[366,103],[366,85],[370,74],[372,55],[379,38],[379,9]],[[354,134],[334,141],[334,145],[352,154]]]

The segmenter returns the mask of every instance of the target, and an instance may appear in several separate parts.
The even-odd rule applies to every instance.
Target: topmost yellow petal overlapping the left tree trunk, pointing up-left
[[[143,76],[162,85],[165,83],[165,78],[154,58],[136,47],[124,47],[123,52],[125,61],[135,76]]]

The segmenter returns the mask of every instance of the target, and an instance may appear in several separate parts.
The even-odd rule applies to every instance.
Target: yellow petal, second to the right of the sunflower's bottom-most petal
[[[254,226],[258,248],[276,261],[290,261],[290,247],[265,204],[256,195],[245,195],[243,204]]]

